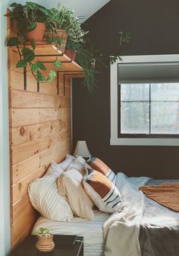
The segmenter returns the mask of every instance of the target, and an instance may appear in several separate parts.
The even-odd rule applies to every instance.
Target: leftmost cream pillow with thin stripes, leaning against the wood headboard
[[[63,170],[53,162],[42,178],[36,178],[29,184],[30,202],[47,219],[70,221],[73,213],[67,200],[58,194],[57,173],[62,174]]]

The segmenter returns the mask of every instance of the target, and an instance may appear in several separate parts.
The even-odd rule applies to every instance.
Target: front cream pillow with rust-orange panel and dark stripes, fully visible
[[[115,213],[120,210],[121,194],[118,188],[99,171],[86,168],[83,187],[102,212]]]

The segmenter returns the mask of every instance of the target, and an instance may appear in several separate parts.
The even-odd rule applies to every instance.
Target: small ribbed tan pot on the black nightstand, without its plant
[[[52,234],[48,234],[48,236],[37,235],[37,238],[38,238],[38,241],[36,243],[37,250],[52,251],[55,248]]]

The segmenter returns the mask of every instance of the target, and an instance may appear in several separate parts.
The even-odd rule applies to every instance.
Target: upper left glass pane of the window
[[[121,101],[149,101],[149,85],[121,85]]]

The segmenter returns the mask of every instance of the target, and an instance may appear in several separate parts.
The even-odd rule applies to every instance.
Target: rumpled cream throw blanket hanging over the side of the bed
[[[140,256],[140,223],[144,195],[139,187],[149,178],[127,178],[117,174],[116,187],[121,193],[121,213],[113,213],[104,223],[105,256]]]

